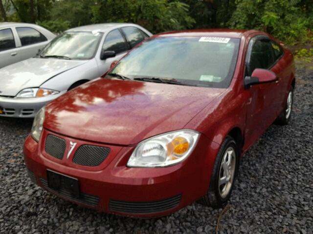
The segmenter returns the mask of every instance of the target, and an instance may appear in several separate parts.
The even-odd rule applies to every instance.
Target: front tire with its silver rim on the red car
[[[224,171],[223,162],[224,159],[227,158],[226,154],[231,153],[231,170],[230,173],[226,173]],[[201,203],[207,206],[211,206],[213,208],[221,208],[223,207],[230,198],[231,191],[234,187],[235,178],[237,176],[238,165],[239,165],[239,150],[238,146],[233,137],[227,136],[224,140],[221,148],[219,150],[218,155],[216,156],[211,181],[209,185],[209,189],[201,198]],[[227,163],[227,161],[226,161]],[[225,165],[225,164],[224,164]],[[228,176],[225,176],[225,175]],[[229,179],[225,184],[221,183],[222,178]],[[230,182],[230,183],[229,183]],[[224,190],[225,188],[225,190]],[[224,191],[224,192],[223,192]]]

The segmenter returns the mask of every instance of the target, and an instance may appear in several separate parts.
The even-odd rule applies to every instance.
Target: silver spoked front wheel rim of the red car
[[[222,198],[225,198],[232,187],[235,169],[236,169],[236,153],[233,147],[228,147],[225,151],[219,173],[219,192]]]

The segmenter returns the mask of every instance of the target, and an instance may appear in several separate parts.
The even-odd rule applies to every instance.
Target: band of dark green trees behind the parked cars
[[[153,33],[191,28],[259,29],[288,44],[312,42],[313,0],[0,0],[0,20],[54,32],[134,22]]]

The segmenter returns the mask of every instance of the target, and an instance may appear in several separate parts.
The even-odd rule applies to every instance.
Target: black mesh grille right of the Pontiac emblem
[[[94,145],[80,146],[73,157],[73,162],[84,166],[98,166],[109,155],[110,148]]]

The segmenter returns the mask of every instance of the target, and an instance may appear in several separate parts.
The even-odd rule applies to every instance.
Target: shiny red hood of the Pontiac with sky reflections
[[[98,78],[46,106],[44,127],[69,137],[134,145],[184,126],[224,89]]]

